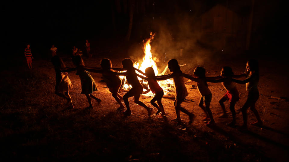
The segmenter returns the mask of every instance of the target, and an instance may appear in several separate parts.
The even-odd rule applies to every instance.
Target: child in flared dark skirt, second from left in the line
[[[61,72],[76,71],[76,75],[79,76],[80,82],[81,82],[81,88],[82,88],[81,94],[85,94],[89,102],[89,107],[87,108],[93,109],[91,98],[95,99],[98,102],[98,104],[101,102],[101,99],[96,98],[94,95],[92,95],[92,92],[97,91],[95,81],[92,78],[92,76],[89,74],[89,72],[84,70],[84,63],[83,63],[81,56],[77,55],[73,57],[72,61],[76,67],[72,69],[68,69],[68,70],[61,70]]]

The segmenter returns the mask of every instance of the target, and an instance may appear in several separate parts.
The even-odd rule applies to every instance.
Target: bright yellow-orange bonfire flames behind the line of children
[[[141,62],[141,63],[138,63],[138,62],[135,62],[135,64],[134,64],[134,67],[135,68],[138,68],[138,69],[140,69],[141,71],[145,71],[145,69],[147,68],[147,67],[152,67],[153,69],[154,69],[154,72],[155,72],[155,75],[164,75],[164,73],[166,72],[166,70],[167,70],[167,66],[166,66],[166,68],[163,70],[163,72],[162,73],[159,73],[158,72],[158,70],[157,70],[157,65],[156,65],[156,58],[153,58],[152,57],[152,54],[151,54],[151,40],[152,39],[154,39],[154,35],[155,35],[155,33],[154,34],[152,34],[152,33],[150,33],[150,35],[151,35],[151,37],[146,41],[146,42],[144,42],[144,58],[143,58],[143,61]],[[138,72],[137,72],[138,73]],[[142,75],[142,74],[140,74],[140,75]],[[138,78],[139,80],[142,80],[141,78]],[[173,89],[172,89],[172,85],[173,85],[173,80],[172,79],[168,79],[168,80],[164,80],[164,81],[157,81],[158,83],[159,83],[159,85],[163,88],[163,90],[164,90],[164,94],[165,95],[167,95],[167,93],[169,92],[169,91],[173,91]],[[147,81],[143,81],[142,82],[143,84],[146,84],[147,85]],[[129,87],[129,85],[124,85],[124,88],[125,89],[129,89],[130,87]],[[170,89],[170,90],[169,90]],[[145,89],[144,89],[144,91],[146,91]],[[144,94],[144,95],[146,95],[146,96],[150,96],[150,95],[152,95],[152,92],[150,91],[149,93],[147,93],[147,94]]]

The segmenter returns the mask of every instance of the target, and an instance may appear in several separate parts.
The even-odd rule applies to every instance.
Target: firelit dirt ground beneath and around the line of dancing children
[[[85,58],[85,65],[98,66],[103,57],[107,56],[94,55],[93,58]],[[111,59],[113,67],[121,67],[120,61],[123,59],[122,57],[111,56],[108,58]],[[217,76],[223,66],[232,67],[235,74],[243,73],[246,59],[247,58],[228,58],[222,61],[207,60],[196,62],[194,57],[180,57],[178,61],[179,64],[186,63],[185,66],[181,67],[184,73],[192,73],[194,67],[200,65],[205,67],[207,76]],[[69,58],[64,58],[64,62],[67,66],[73,66]],[[98,73],[91,73],[91,75],[98,86],[98,91],[94,94],[102,99],[102,103],[97,105],[97,102],[93,101],[92,104],[95,110],[92,110],[88,114],[84,113],[84,108],[89,105],[85,95],[80,94],[81,85],[79,76],[75,75],[75,72],[71,72],[69,73],[69,77],[72,81],[73,89],[70,91],[70,95],[73,98],[75,108],[73,110],[65,110],[63,105],[65,103],[64,100],[53,94],[55,74],[52,64],[45,60],[33,61],[33,73],[45,74],[46,80],[43,79],[41,82],[45,82],[43,84],[48,87],[46,87],[47,89],[45,89],[45,87],[37,88],[35,86],[34,89],[22,87],[26,92],[19,94],[20,96],[17,98],[19,101],[16,101],[16,98],[14,98],[13,100],[9,100],[9,104],[2,104],[1,127],[3,131],[1,133],[1,141],[4,143],[2,147],[5,146],[7,148],[5,151],[2,151],[2,154],[6,154],[8,157],[37,161],[47,161],[48,159],[52,160],[54,158],[57,160],[70,159],[73,161],[81,161],[84,159],[96,160],[98,158],[94,156],[101,154],[103,154],[103,156],[106,155],[104,156],[106,158],[109,157],[109,155],[118,155],[115,151],[117,152],[119,150],[115,149],[115,147],[123,145],[125,142],[109,143],[108,141],[117,141],[115,138],[121,139],[123,136],[129,136],[124,138],[124,140],[135,140],[134,138],[138,138],[138,143],[120,147],[127,149],[119,151],[123,155],[120,157],[120,161],[175,161],[178,159],[177,157],[179,157],[179,159],[183,158],[185,161],[287,161],[289,146],[287,120],[289,102],[286,97],[289,96],[287,88],[287,80],[289,78],[288,75],[284,75],[283,71],[288,70],[288,65],[270,58],[259,59],[259,63],[260,97],[256,103],[256,109],[264,124],[260,127],[250,125],[250,122],[255,121],[256,118],[249,109],[249,131],[242,132],[239,131],[238,128],[231,128],[226,125],[232,119],[231,113],[228,110],[229,102],[225,103],[229,117],[227,119],[218,118],[222,113],[218,100],[225,94],[225,89],[221,83],[208,83],[213,95],[210,108],[216,121],[215,127],[209,128],[202,121],[204,113],[197,106],[200,95],[195,88],[188,89],[188,101],[182,103],[182,107],[197,116],[193,124],[188,124],[188,116],[183,113],[181,113],[181,118],[184,122],[183,125],[177,125],[174,122],[163,124],[164,121],[160,116],[148,118],[145,109],[134,104],[132,98],[129,99],[132,115],[125,118],[122,114],[118,114],[115,110],[118,105],[106,88],[105,83],[101,81],[101,74]],[[29,70],[26,69],[24,71]],[[25,73],[26,76],[32,75],[29,72]],[[6,74],[9,74],[9,72],[2,71],[2,76]],[[21,74],[19,74],[19,77],[22,77]],[[6,75],[5,80],[9,83],[13,78],[11,79]],[[35,82],[35,85],[37,85],[39,79],[36,79]],[[190,84],[191,83],[188,85]],[[240,108],[246,101],[247,96],[245,85],[237,85],[237,88],[240,92],[240,101],[237,102],[235,110],[237,113],[237,125],[241,125],[243,122]],[[121,93],[121,95],[124,94],[124,92]],[[39,98],[37,98],[36,95],[38,95]],[[3,96],[2,99],[4,99]],[[149,107],[152,107],[150,104],[151,97],[141,96],[140,100]],[[174,119],[176,113],[173,107],[173,100],[163,98],[163,106],[167,118],[169,120]],[[154,109],[154,112],[155,111]],[[45,116],[39,117],[39,114],[45,114]],[[15,116],[21,116],[21,119],[18,120]],[[49,118],[49,120],[46,120],[47,118]],[[21,126],[18,126],[17,123],[15,124],[15,121],[22,123],[18,123]],[[98,123],[96,124],[95,122]],[[43,128],[41,123],[45,123],[43,124],[45,125]],[[98,126],[96,127],[95,125]],[[146,125],[148,125],[148,127]],[[36,131],[31,131],[30,128]],[[76,131],[73,131],[73,128],[77,128]],[[44,129],[45,131],[43,131]],[[91,130],[94,129],[104,131],[104,133],[96,133],[103,134],[103,137],[93,135],[94,131]],[[113,132],[112,129],[118,132]],[[147,132],[144,130],[147,130]],[[164,133],[165,130],[167,131],[166,133]],[[127,131],[131,132],[130,135],[120,135],[126,134]],[[30,135],[27,135],[27,132],[30,132]],[[42,133],[39,135],[39,132]],[[139,135],[137,132],[144,135]],[[60,138],[59,136],[61,136],[61,134],[65,134],[65,138]],[[26,136],[29,137],[26,138]],[[53,138],[51,136],[53,136]],[[95,138],[95,136],[102,138],[102,140],[96,140],[101,142],[95,142],[95,140],[92,139]],[[141,138],[147,136],[150,138]],[[161,141],[166,141],[164,142],[166,144],[155,142],[154,139],[158,136],[161,136]],[[171,141],[176,139],[178,139],[179,142],[175,143]],[[147,140],[152,140],[152,142],[150,143]],[[13,142],[10,144],[8,141]],[[78,146],[75,143],[82,143],[83,146]],[[73,146],[74,144],[75,146]],[[91,146],[93,144],[98,146]],[[188,152],[178,152],[178,148],[183,147],[182,144],[190,148]],[[143,145],[141,146],[142,149],[137,149],[138,145]],[[2,149],[5,149],[5,147]],[[48,147],[48,150],[43,149],[43,147]],[[89,150],[85,149],[86,147],[89,148]],[[98,147],[101,147],[101,149]],[[160,150],[162,150],[162,148],[163,150],[167,150],[166,147],[173,147],[175,149],[168,151],[166,154],[162,153]],[[112,148],[114,148],[114,150]],[[28,151],[25,153],[25,151],[23,151],[24,149],[34,151],[36,152],[35,154],[39,154],[39,156],[33,156],[34,154],[28,153]],[[37,149],[41,151],[37,151]],[[134,149],[135,151],[133,151]],[[101,153],[95,153],[99,150],[101,150]],[[150,152],[148,150],[158,151]],[[40,157],[40,155],[44,156]],[[110,160],[110,158],[107,158],[104,161]]]

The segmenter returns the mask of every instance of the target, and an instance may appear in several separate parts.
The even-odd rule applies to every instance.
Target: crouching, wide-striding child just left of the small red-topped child
[[[137,74],[135,73],[135,68],[133,67],[132,60],[130,58],[125,58],[123,61],[121,61],[121,63],[123,65],[123,70],[127,70],[126,72],[117,73],[111,71],[110,73],[118,76],[126,76],[127,82],[132,85],[132,88],[125,95],[123,95],[123,101],[126,105],[126,111],[124,112],[124,114],[128,116],[131,115],[128,98],[134,97],[135,103],[148,110],[148,116],[151,116],[152,109],[139,101],[139,97],[142,94],[143,87],[138,80]]]

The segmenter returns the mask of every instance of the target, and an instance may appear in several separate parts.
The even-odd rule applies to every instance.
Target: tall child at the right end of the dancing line
[[[245,76],[245,80],[236,80],[232,79],[233,82],[239,83],[239,84],[246,84],[246,91],[248,92],[247,101],[245,102],[244,106],[241,108],[242,115],[243,115],[243,121],[244,124],[242,126],[243,129],[248,129],[247,126],[247,109],[250,107],[250,109],[255,114],[257,121],[251,123],[252,125],[262,125],[263,122],[259,117],[259,113],[255,108],[256,101],[259,98],[259,90],[258,90],[258,82],[259,82],[259,66],[257,60],[249,60],[246,64],[246,72],[234,76],[234,78],[240,78],[242,76]]]

